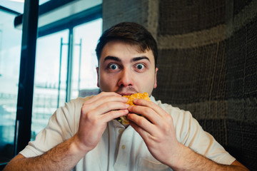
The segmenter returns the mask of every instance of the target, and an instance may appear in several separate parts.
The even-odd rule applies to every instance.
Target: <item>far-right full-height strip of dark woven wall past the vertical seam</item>
[[[257,170],[257,1],[233,1],[228,23],[227,147],[248,169]]]

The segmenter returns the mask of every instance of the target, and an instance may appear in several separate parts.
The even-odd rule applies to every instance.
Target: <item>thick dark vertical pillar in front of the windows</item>
[[[31,138],[31,113],[38,18],[39,0],[25,0],[16,113],[16,134],[14,140],[15,154],[23,150]]]

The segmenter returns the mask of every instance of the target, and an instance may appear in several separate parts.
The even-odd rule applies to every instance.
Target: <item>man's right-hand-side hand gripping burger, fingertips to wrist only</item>
[[[171,115],[150,101],[135,99],[134,103],[136,105],[129,107],[127,118],[143,138],[148,150],[163,164],[169,165],[169,162],[176,162],[181,144],[176,139]],[[133,113],[141,114],[147,119]]]

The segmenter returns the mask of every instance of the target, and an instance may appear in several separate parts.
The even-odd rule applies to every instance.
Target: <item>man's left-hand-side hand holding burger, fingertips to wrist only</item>
[[[79,130],[76,140],[79,148],[90,151],[98,144],[109,121],[129,113],[128,98],[110,92],[100,93],[86,100],[81,108]]]

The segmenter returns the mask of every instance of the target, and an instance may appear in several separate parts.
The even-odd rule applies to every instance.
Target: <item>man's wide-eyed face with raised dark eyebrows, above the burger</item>
[[[138,52],[138,46],[121,41],[106,43],[96,71],[101,91],[150,95],[157,86],[158,68],[155,68],[152,51]]]

